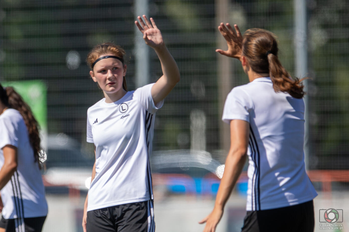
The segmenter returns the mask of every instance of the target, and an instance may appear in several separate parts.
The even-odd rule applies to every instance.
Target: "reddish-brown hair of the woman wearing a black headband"
[[[115,56],[118,56],[122,59],[124,59],[124,56],[126,55],[125,50],[120,47],[119,45],[115,45],[111,42],[106,42],[103,44],[98,44],[94,48],[91,49],[89,54],[87,54],[86,63],[90,67],[90,69],[93,71],[92,64],[100,57],[101,55],[105,55],[108,53],[112,53]],[[124,65],[124,63],[122,63]],[[126,85],[126,78],[124,77],[122,80],[122,88],[127,91],[127,85]]]

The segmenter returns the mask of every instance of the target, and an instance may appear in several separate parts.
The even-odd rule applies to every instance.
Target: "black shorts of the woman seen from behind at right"
[[[247,211],[242,232],[313,232],[313,201],[277,209]]]

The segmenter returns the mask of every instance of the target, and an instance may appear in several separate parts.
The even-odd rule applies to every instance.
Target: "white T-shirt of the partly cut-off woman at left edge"
[[[17,147],[17,171],[1,190],[5,219],[43,217],[47,215],[45,190],[34,158],[27,126],[15,109],[7,109],[0,115],[0,166],[3,166],[2,148]]]

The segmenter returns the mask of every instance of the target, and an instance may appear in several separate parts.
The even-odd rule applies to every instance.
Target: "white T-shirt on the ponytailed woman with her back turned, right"
[[[317,196],[305,172],[304,109],[303,99],[275,93],[269,77],[228,94],[222,120],[250,123],[247,210],[286,207]]]

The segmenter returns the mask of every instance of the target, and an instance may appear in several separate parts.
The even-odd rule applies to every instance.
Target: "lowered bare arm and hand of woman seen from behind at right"
[[[230,121],[230,150],[225,161],[223,177],[218,188],[215,206],[212,212],[199,223],[205,223],[204,232],[214,232],[221,221],[225,203],[238,180],[247,157],[249,123],[234,119]]]

